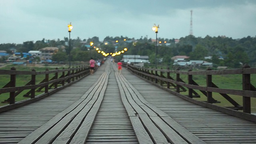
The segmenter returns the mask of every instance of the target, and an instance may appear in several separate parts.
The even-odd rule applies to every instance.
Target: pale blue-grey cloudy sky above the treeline
[[[68,37],[256,36],[256,0],[0,0],[0,44]]]

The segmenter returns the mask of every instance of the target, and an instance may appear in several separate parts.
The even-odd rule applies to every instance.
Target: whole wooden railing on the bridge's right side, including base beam
[[[251,84],[251,74],[256,74],[256,68],[250,68],[247,64],[240,69],[228,69],[228,70],[211,70],[208,68],[204,71],[182,71],[179,68],[177,70],[169,70],[169,69],[157,69],[157,68],[144,68],[137,67],[132,65],[126,65],[128,70],[133,72],[134,74],[140,76],[144,80],[162,88],[168,90],[169,92],[180,96],[190,102],[194,102],[196,104],[206,106],[209,108],[213,108],[219,110],[221,112],[225,112],[228,114],[232,114],[237,117],[241,117],[244,119],[252,120],[256,122],[255,115],[251,113],[251,98],[256,98],[256,88]],[[214,75],[228,75],[228,74],[240,74],[242,75],[241,81],[241,89],[242,90],[234,90],[234,89],[225,89],[219,88],[213,82],[212,76]],[[171,75],[174,75],[176,78],[172,78]],[[187,83],[182,80],[180,75],[186,75]],[[193,76],[201,75],[205,78],[205,86],[200,86],[196,83],[196,80],[193,80]],[[173,77],[174,77],[173,76]],[[202,94],[198,94],[201,92]],[[182,93],[182,94],[181,94]],[[220,103],[218,100],[215,100],[212,96],[212,93],[218,93],[220,96],[225,98],[230,104],[231,107],[221,107],[217,106],[214,103]],[[230,95],[241,96],[242,97],[242,106],[238,104]],[[200,96],[206,96],[206,101],[199,101],[193,98],[199,98]],[[242,110],[242,112],[241,112]]]

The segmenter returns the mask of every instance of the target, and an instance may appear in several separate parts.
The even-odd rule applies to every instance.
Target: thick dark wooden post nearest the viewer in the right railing
[[[250,68],[248,64],[243,66],[244,68]],[[243,90],[250,90],[251,88],[251,76],[250,74],[243,74]],[[243,96],[243,112],[251,113],[251,98]]]

